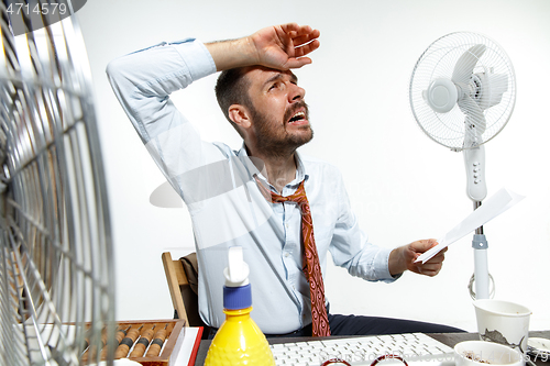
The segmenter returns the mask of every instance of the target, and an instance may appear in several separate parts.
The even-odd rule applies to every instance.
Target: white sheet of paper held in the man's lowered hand
[[[424,264],[430,260],[436,254],[448,247],[450,244],[490,222],[517,202],[521,201],[524,198],[525,196],[520,196],[507,190],[506,188],[502,188],[490,199],[484,201],[483,204],[474,210],[470,215],[462,220],[450,232],[448,232],[441,240],[439,240],[438,245],[422,253],[415,260],[415,263],[422,262]]]

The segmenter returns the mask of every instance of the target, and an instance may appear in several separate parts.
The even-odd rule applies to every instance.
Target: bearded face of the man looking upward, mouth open
[[[253,106],[249,109],[256,148],[277,156],[293,153],[308,143],[314,132],[304,101],[306,91],[298,87],[296,76],[290,71],[257,67],[246,77],[251,81],[249,96]]]

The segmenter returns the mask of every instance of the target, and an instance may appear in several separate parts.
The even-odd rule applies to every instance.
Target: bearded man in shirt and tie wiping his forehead
[[[418,255],[436,244],[433,240],[394,249],[369,243],[338,169],[297,152],[312,138],[312,130],[305,90],[290,69],[311,63],[308,55],[319,47],[319,35],[310,26],[284,24],[233,41],[163,43],[108,66],[122,107],[189,209],[201,318],[215,330],[222,324],[222,269],[228,248],[239,245],[251,268],[252,317],[266,335],[454,331],[402,320],[324,314],[320,271],[326,271],[329,251],[351,275],[388,282],[405,270],[437,275],[443,253],[416,264]],[[201,141],[169,100],[172,92],[216,71],[223,71],[216,87],[220,107],[244,141],[238,152]],[[284,201],[298,191],[304,199],[307,196],[308,207]],[[311,229],[307,222],[312,222],[315,241],[302,232]],[[308,259],[302,260],[304,256]],[[316,268],[320,268],[317,275]],[[318,296],[321,310],[319,301],[311,300]],[[319,319],[328,319],[330,329],[322,325],[327,333],[316,334]]]

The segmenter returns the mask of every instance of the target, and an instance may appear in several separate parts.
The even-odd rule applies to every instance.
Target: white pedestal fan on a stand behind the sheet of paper
[[[487,195],[483,144],[503,130],[514,110],[516,79],[512,62],[499,45],[483,35],[448,34],[418,59],[409,99],[416,121],[430,138],[453,152],[463,152],[466,193],[475,210]],[[483,226],[476,230],[472,246],[474,275],[470,292],[473,298],[486,299],[494,286],[490,291],[492,278]]]

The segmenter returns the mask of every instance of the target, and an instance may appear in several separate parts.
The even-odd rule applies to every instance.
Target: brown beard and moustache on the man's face
[[[314,130],[310,124],[298,126],[297,131],[289,132],[286,126],[288,120],[300,108],[305,109],[306,119],[309,121],[308,106],[305,101],[299,101],[293,104],[285,112],[283,125],[274,119],[270,119],[258,113],[253,107],[249,108],[254,123],[254,131],[256,134],[257,146],[256,148],[262,154],[272,157],[284,157],[294,153],[301,145],[307,144],[314,138]]]

